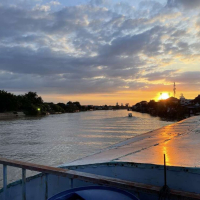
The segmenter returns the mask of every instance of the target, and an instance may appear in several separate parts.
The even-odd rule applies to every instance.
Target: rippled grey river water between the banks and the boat
[[[126,110],[110,110],[1,120],[0,157],[58,166],[172,123],[132,114],[130,118]],[[8,172],[9,182],[21,176],[19,169],[9,167]]]

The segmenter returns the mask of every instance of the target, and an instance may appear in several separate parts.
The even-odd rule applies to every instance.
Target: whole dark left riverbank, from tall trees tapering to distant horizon
[[[53,102],[44,102],[42,97],[38,96],[36,92],[28,92],[24,95],[14,95],[4,90],[0,90],[0,113],[23,111],[26,115],[39,116],[48,115],[49,113],[61,114],[93,110],[118,110],[127,108],[128,104],[126,104],[126,106],[95,106],[81,105],[78,101],[68,101],[67,103],[55,104]],[[12,115],[5,115],[5,117],[12,117]]]

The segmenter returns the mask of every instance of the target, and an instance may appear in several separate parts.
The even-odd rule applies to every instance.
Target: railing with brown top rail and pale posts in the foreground
[[[0,158],[0,164],[3,165],[3,194],[4,200],[7,199],[7,166],[17,167],[22,169],[22,199],[26,200],[26,170],[42,172],[45,174],[45,200],[48,199],[48,174],[68,177],[71,182],[70,186],[73,188],[73,180],[78,179],[98,185],[105,185],[111,187],[117,187],[126,190],[133,190],[134,192],[147,192],[153,194],[159,194],[161,187],[147,185],[143,183],[136,183],[131,181],[125,181],[117,178],[111,178],[106,176],[100,176],[96,174],[90,174],[85,172],[79,172],[69,169],[49,167],[45,165],[37,165],[27,162],[9,160]],[[183,192],[177,190],[170,190],[170,195],[177,199],[200,199],[200,194]]]

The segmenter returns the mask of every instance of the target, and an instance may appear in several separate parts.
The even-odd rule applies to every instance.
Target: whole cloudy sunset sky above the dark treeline
[[[199,0],[0,2],[0,90],[133,105],[200,94]]]

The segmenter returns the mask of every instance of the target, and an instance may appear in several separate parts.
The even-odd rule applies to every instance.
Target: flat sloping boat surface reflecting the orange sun
[[[62,166],[105,162],[132,162],[200,167],[200,116],[138,135],[99,153]]]

